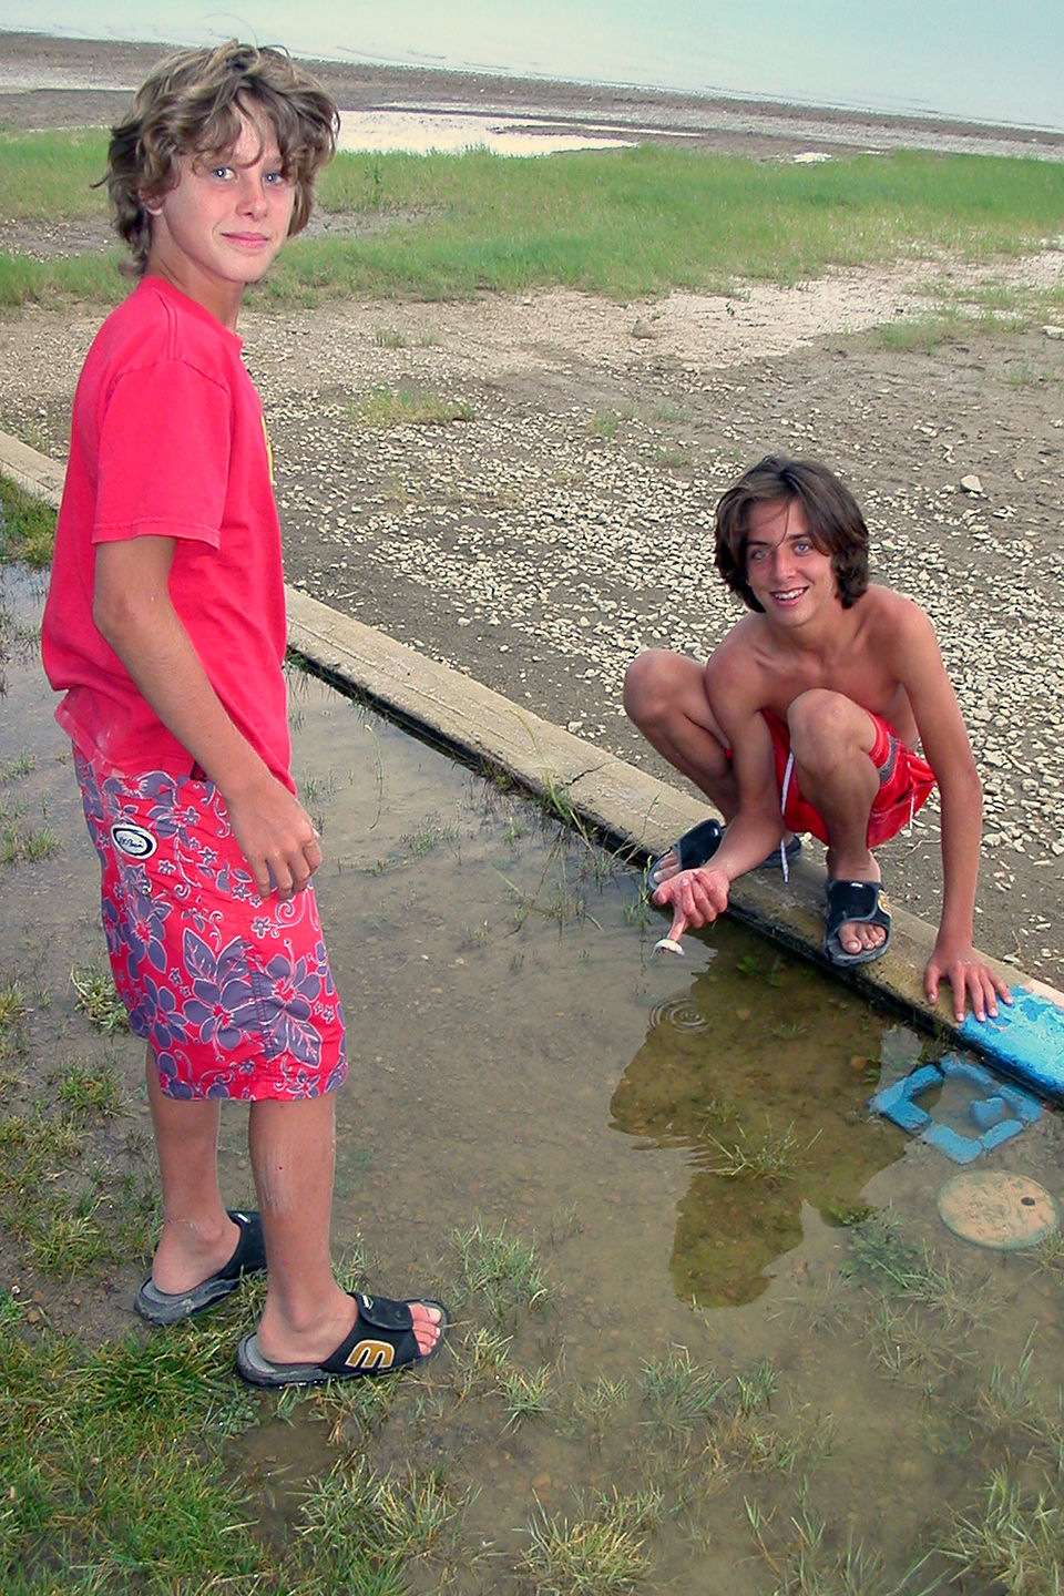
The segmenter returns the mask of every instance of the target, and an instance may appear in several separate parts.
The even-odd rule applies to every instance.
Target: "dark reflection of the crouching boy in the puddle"
[[[676,1294],[739,1304],[801,1238],[801,1205],[839,1221],[903,1136],[869,1120],[884,1018],[742,935],[654,1005],[613,1101],[644,1148],[684,1148],[691,1184],[670,1259]]]

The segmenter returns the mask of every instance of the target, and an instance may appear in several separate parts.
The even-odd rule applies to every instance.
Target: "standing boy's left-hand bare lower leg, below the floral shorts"
[[[163,1179],[163,1234],[152,1261],[160,1291],[188,1291],[223,1269],[239,1240],[219,1191],[219,1116],[212,1098],[171,1098],[147,1058],[148,1103]]]

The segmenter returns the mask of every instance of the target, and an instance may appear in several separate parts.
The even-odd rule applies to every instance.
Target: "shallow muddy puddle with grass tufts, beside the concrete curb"
[[[5,827],[57,846],[0,865],[0,964],[51,994],[35,1037],[62,1057],[88,1034],[70,967],[104,961],[99,878],[35,658],[40,584],[3,584]],[[635,1588],[873,1593],[960,1535],[1003,1459],[1024,1500],[1059,1481],[1059,1248],[954,1237],[954,1167],[865,1112],[919,1039],[732,924],[654,954],[638,871],[311,677],[290,699],[351,1052],[333,1242],[455,1323],[372,1419],[349,1387],[282,1419],[262,1398],[230,1446],[263,1534],[284,1545],[306,1481],[357,1454],[381,1478],[445,1470],[455,1540],[408,1559],[410,1590],[627,1588],[515,1572],[624,1503]],[[140,1045],[108,1045],[118,1146],[145,1125]],[[227,1112],[233,1202],[244,1135]],[[984,1163],[1059,1195],[1059,1116]]]

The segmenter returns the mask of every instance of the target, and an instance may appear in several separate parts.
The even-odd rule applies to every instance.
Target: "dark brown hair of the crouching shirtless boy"
[[[764,613],[747,581],[750,511],[774,500],[798,501],[814,547],[831,557],[836,591],[844,610],[868,589],[868,527],[861,508],[833,471],[815,460],[766,455],[745,471],[716,506],[715,565],[731,591],[750,610]]]

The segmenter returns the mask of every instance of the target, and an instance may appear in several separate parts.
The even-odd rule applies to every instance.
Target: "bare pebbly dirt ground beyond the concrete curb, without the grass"
[[[105,123],[148,46],[0,34],[0,126]],[[345,107],[509,107],[633,126],[758,158],[919,144],[1059,160],[1015,131],[710,105],[442,73],[322,72]],[[333,225],[345,225],[343,219]],[[85,228],[0,247],[86,247]],[[1064,252],[981,278],[1056,284]],[[865,504],[874,575],[932,614],[986,792],[976,937],[1064,986],[1064,343],[1056,329],[887,350],[946,260],[731,298],[614,305],[547,292],[475,303],[345,303],[284,319],[247,302],[289,581],[469,672],[589,742],[659,769],[621,710],[648,645],[703,656],[739,618],[711,567],[719,492],[769,448],[820,456]],[[0,327],[0,428],[54,456],[97,324],[26,311]],[[461,405],[373,429],[357,401],[404,383]],[[973,480],[975,479],[975,480]],[[897,902],[938,913],[936,816],[884,851]]]

